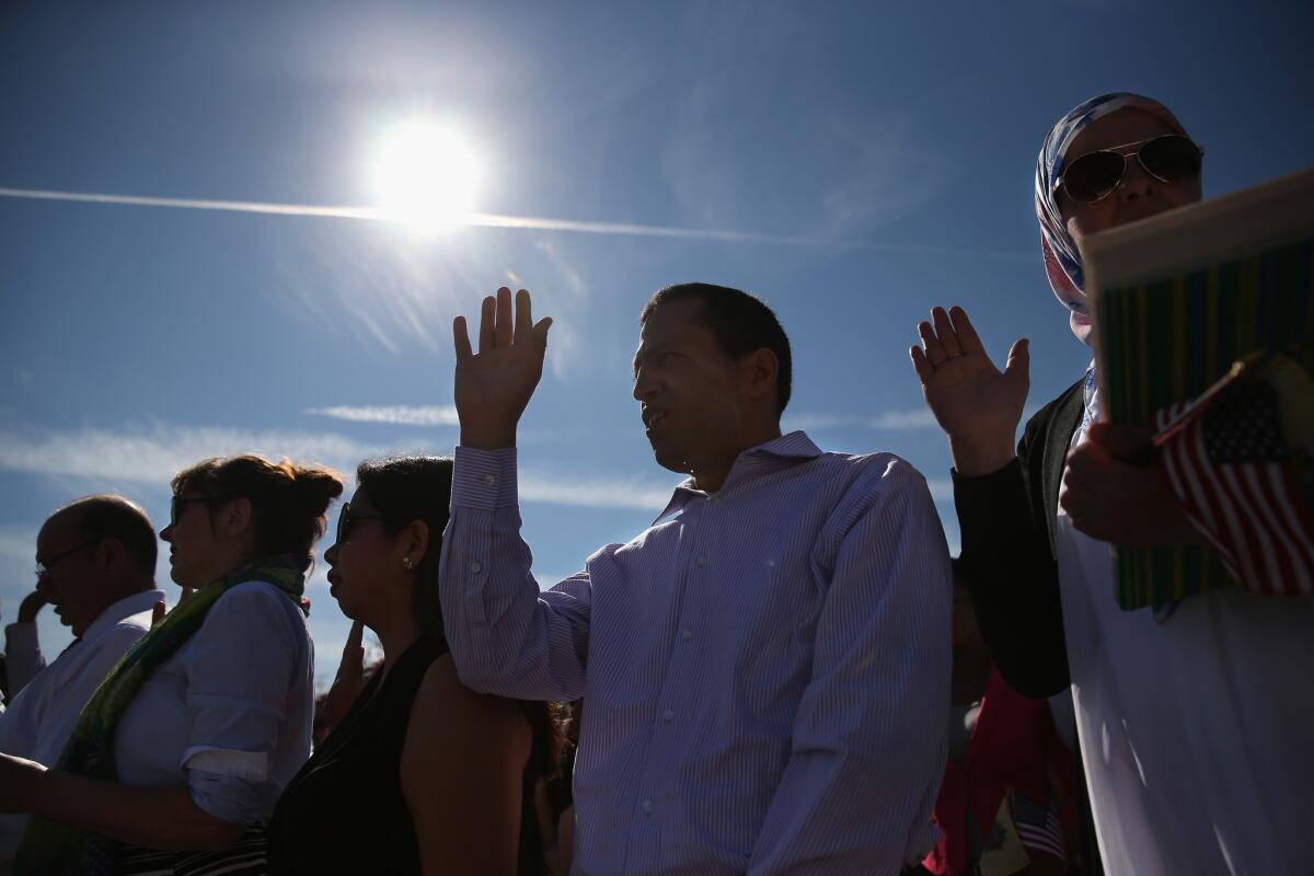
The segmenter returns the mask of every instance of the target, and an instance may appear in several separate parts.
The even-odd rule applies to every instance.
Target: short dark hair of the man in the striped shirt
[[[741,359],[763,347],[775,353],[775,415],[783,414],[784,406],[790,403],[794,360],[790,356],[790,339],[781,328],[775,313],[761,298],[740,289],[710,282],[679,282],[653,293],[639,314],[639,324],[645,324],[653,310],[673,301],[700,302],[703,324],[712,331],[716,344],[731,359]]]

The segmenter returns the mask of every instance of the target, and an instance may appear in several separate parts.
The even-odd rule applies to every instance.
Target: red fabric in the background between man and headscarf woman
[[[945,835],[921,865],[936,876],[959,876],[968,864],[968,809],[978,829],[988,837],[1009,788],[1046,802],[1051,780],[1056,780],[1062,799],[1070,801],[1072,767],[1072,755],[1054,730],[1049,700],[1022,696],[991,668],[967,759],[959,764],[949,758],[945,764],[933,814]],[[1068,827],[1071,813],[1063,812],[1060,820]]]

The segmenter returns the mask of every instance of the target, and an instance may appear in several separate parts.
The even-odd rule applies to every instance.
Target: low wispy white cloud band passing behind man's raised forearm
[[[89,489],[124,483],[163,487],[181,469],[213,456],[260,453],[319,462],[344,474],[364,458],[386,456],[389,448],[325,432],[254,432],[222,427],[152,424],[106,429],[0,429],[0,469],[91,481]],[[434,452],[407,448],[407,452]],[[652,479],[589,477],[522,470],[520,499],[579,508],[625,508],[656,514],[670,499],[673,483]],[[3,545],[0,545],[3,548]]]

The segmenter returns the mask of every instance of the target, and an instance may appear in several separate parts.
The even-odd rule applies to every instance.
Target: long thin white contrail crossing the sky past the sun
[[[318,204],[271,204],[267,201],[212,201],[202,198],[159,198],[141,194],[101,194],[95,192],[51,192],[46,189],[0,188],[0,197],[33,201],[72,201],[78,204],[118,204],[125,206],[158,206],[180,210],[221,210],[226,213],[264,213],[272,215],[305,215],[328,219],[363,219],[367,222],[405,223],[401,213],[371,206],[335,206]],[[527,215],[497,213],[466,213],[452,219],[453,225],[484,229],[527,229],[533,231],[574,231],[578,234],[620,234],[640,238],[674,238],[682,240],[719,240],[725,243],[771,243],[799,247],[833,247],[841,250],[883,250],[913,255],[975,255],[1005,261],[1034,261],[1031,255],[989,250],[970,251],[950,247],[926,247],[903,243],[871,243],[840,240],[834,238],[808,238],[752,231],[721,231],[717,229],[677,229],[661,225],[635,225],[628,222],[582,222],[577,219],[545,219]]]

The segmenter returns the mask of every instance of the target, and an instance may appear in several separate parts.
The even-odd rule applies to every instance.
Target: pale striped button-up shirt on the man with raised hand
[[[950,569],[925,479],[794,432],[540,592],[515,450],[456,449],[461,680],[585,697],[576,873],[897,873],[936,842]]]

